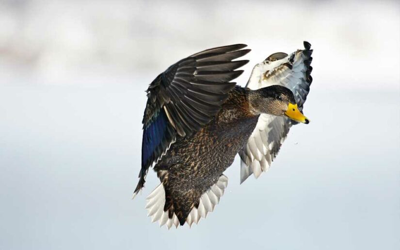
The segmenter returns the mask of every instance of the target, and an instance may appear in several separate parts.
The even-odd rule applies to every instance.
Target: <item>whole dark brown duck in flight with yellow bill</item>
[[[303,104],[312,82],[311,45],[278,52],[257,64],[246,87],[231,81],[248,63],[236,44],[195,53],[156,77],[147,89],[142,168],[160,184],[147,197],[152,221],[168,229],[189,226],[212,212],[224,194],[223,174],[239,153],[240,182],[268,170],[289,128],[309,123]]]

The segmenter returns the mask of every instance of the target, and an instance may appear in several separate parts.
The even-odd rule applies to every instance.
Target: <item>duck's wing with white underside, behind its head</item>
[[[285,86],[293,92],[301,111],[312,82],[310,64],[313,50],[310,48],[311,45],[304,42],[304,50],[297,50],[290,55],[283,52],[270,55],[254,67],[246,86],[250,89],[270,85]],[[252,173],[258,178],[263,171],[268,170],[293,124],[297,122],[286,117],[260,115],[256,129],[239,152],[240,183]]]

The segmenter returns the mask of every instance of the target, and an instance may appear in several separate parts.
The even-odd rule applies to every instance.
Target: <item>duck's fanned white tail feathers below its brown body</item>
[[[208,212],[214,211],[214,207],[219,203],[220,198],[224,195],[224,190],[228,185],[228,178],[221,175],[218,181],[206,191],[199,200],[198,207],[193,207],[190,214],[186,218],[186,224],[189,227],[193,223],[198,223],[200,218],[206,218]],[[168,210],[164,211],[165,206],[165,189],[162,183],[154,189],[147,197],[146,209],[147,216],[151,217],[152,222],[160,221],[160,227],[166,225],[168,229],[174,225],[176,228],[179,226],[179,220],[174,213],[172,218],[168,217]]]

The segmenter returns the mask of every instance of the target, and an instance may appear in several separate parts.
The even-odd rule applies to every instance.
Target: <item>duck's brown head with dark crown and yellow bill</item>
[[[250,91],[249,102],[251,111],[256,115],[264,113],[289,117],[305,124],[310,122],[297,108],[293,93],[280,85]]]

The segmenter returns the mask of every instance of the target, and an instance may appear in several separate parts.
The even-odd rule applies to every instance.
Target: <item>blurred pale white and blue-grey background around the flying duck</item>
[[[146,217],[145,89],[168,66],[307,40],[309,125],[269,172],[167,231]],[[400,249],[399,1],[0,1],[0,249]]]

